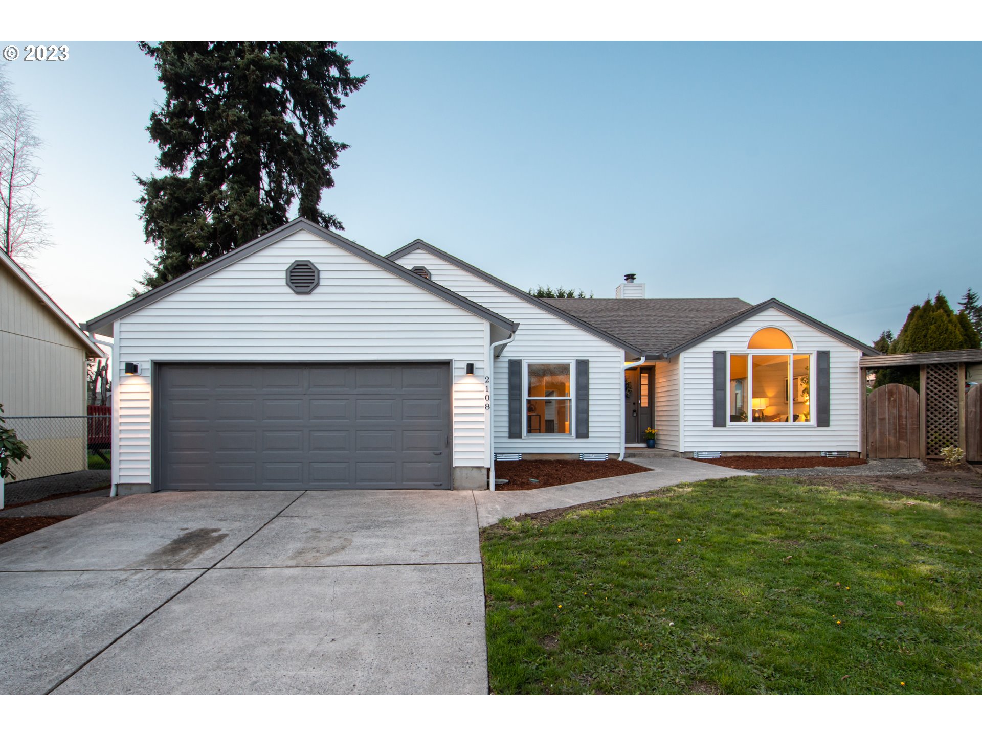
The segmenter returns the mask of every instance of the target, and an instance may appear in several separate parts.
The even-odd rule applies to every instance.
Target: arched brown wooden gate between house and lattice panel
[[[909,386],[888,384],[866,396],[866,457],[920,456],[920,400]]]

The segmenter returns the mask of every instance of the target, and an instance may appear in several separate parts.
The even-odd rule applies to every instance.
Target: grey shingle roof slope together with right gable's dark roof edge
[[[545,299],[575,310],[586,320],[646,345],[649,358],[668,358],[729,330],[765,309],[777,309],[809,327],[861,350],[879,352],[864,342],[809,317],[778,299],[749,304],[742,299]]]

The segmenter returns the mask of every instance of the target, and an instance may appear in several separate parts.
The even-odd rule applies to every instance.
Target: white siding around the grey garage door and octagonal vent
[[[320,269],[312,293],[286,285],[295,260]],[[320,237],[284,237],[117,322],[114,482],[151,482],[151,361],[452,361],[454,465],[482,467],[489,334],[485,320]],[[123,375],[126,362],[142,375]]]

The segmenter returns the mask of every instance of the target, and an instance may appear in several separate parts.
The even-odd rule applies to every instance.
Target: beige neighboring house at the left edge
[[[0,403],[31,455],[13,466],[19,481],[87,467],[85,359],[104,357],[0,251]]]

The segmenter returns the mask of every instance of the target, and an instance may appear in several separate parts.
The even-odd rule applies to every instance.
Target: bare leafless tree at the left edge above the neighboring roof
[[[0,246],[22,264],[50,244],[37,204],[41,139],[33,128],[33,115],[0,73]]]

